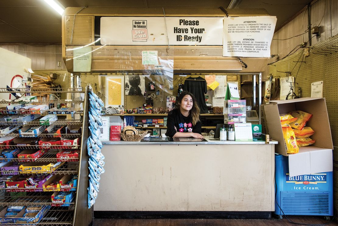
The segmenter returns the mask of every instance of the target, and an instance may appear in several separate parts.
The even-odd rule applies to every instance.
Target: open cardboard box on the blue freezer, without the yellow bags
[[[316,142],[310,146],[299,147],[297,154],[287,154],[279,114],[296,110],[312,114],[306,126],[315,131],[311,139],[316,140]],[[324,98],[306,97],[292,100],[271,100],[270,104],[264,105],[264,111],[270,138],[278,141],[278,144],[275,145],[275,152],[289,156],[290,176],[333,170],[333,143]]]

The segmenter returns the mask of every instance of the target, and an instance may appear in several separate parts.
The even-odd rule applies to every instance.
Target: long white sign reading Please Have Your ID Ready
[[[102,45],[168,45],[168,39],[170,45],[223,45],[222,35],[223,17],[101,17],[100,23]]]

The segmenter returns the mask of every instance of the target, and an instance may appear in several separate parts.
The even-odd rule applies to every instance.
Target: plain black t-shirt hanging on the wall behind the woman
[[[206,105],[206,97],[204,96],[207,93],[207,82],[202,77],[192,78],[189,77],[184,82],[184,91],[191,92],[198,104],[200,113],[208,113],[208,107]]]

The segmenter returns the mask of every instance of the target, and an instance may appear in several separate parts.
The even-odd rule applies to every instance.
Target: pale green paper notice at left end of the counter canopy
[[[87,72],[92,67],[92,47],[87,46],[81,49],[73,50],[73,67],[74,71]]]

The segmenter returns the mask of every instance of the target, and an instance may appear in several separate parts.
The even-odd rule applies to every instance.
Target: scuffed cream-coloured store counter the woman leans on
[[[103,142],[95,211],[274,211],[274,145]]]

